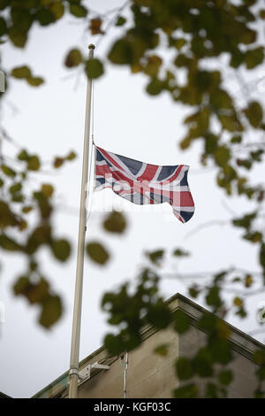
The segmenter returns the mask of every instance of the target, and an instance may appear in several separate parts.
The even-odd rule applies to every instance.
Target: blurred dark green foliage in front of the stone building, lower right
[[[156,266],[155,262],[153,263]],[[210,311],[214,312],[201,312],[201,317],[194,322],[194,318],[181,309],[181,304],[175,309],[170,301],[163,301],[159,295],[162,277],[155,269],[142,270],[136,283],[125,282],[116,292],[107,292],[102,297],[102,309],[108,314],[108,322],[116,327],[115,333],[105,336],[105,347],[110,354],[119,355],[139,347],[145,339],[148,327],[170,328],[178,335],[187,336],[189,331],[193,331],[193,327],[198,327],[205,333],[205,341],[201,345],[198,344],[195,352],[186,351],[186,355],[177,358],[175,370],[179,387],[174,390],[174,397],[227,397],[234,379],[231,365],[235,352],[231,342],[231,328],[221,318],[229,309],[229,301],[221,297],[221,289],[224,280],[234,273],[235,271],[230,270],[217,273],[210,285],[202,285],[196,293],[193,292],[193,297],[198,297],[199,294],[203,296],[203,301],[208,304]],[[246,278],[242,276],[242,283],[249,278],[249,275]],[[239,311],[244,308],[244,302],[239,297],[234,298],[233,304]],[[241,312],[239,315],[245,317]],[[155,347],[154,353],[166,357],[170,348],[175,347],[170,347],[170,343],[159,344]],[[250,357],[257,364],[254,397],[265,395],[264,354],[265,348],[254,351]]]

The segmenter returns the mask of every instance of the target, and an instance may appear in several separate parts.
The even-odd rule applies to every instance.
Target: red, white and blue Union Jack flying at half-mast
[[[169,203],[181,222],[194,213],[189,166],[157,166],[125,158],[96,147],[95,190],[111,188],[133,204]]]

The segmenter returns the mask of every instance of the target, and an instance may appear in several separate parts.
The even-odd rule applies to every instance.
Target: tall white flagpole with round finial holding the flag
[[[88,46],[89,59],[94,57],[95,46]],[[84,251],[86,236],[86,200],[87,200],[87,176],[88,176],[88,155],[89,155],[89,135],[90,135],[90,119],[91,119],[91,95],[92,80],[87,78],[87,104],[86,104],[86,121],[83,149],[83,166],[82,166],[82,183],[79,208],[79,242],[78,256],[76,268],[75,294],[72,318],[72,345],[71,360],[69,371],[69,398],[78,397],[78,381],[79,381],[79,339],[81,325],[81,309],[82,309],[82,289],[83,289],[83,272],[84,272]]]

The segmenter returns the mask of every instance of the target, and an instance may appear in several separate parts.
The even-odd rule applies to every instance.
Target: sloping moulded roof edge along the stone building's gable
[[[181,310],[186,313],[189,317],[191,324],[196,327],[198,320],[200,320],[201,315],[204,313],[209,313],[205,308],[200,306],[199,304],[194,303],[192,300],[184,297],[177,293],[176,295],[170,297],[166,304],[170,305],[170,309],[172,313],[176,312],[177,310]],[[237,327],[233,327],[232,325],[226,322],[227,326],[231,330],[230,335],[230,342],[231,348],[234,351],[239,352],[241,355],[245,356],[246,358],[252,359],[253,352],[257,348],[264,348],[264,344],[260,343],[259,341],[252,338],[250,335],[240,331]],[[143,340],[147,339],[149,336],[155,334],[158,331],[155,327],[151,325],[142,327],[142,338]],[[79,370],[82,370],[88,364],[93,364],[98,362],[99,364],[104,364],[110,366],[111,363],[118,359],[117,356],[110,356],[108,352],[105,350],[104,346],[100,347],[98,350],[94,351],[92,354],[84,358],[79,363]],[[98,374],[102,370],[94,369],[91,373],[91,376]],[[84,381],[81,381],[82,384]],[[44,389],[39,391],[34,395],[34,398],[44,398],[44,397],[62,397],[66,395],[68,384],[68,371],[64,374],[60,375],[55,381],[52,381],[48,386]]]

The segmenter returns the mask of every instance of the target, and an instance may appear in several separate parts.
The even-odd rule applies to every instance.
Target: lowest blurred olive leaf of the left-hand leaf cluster
[[[42,303],[42,312],[39,323],[42,327],[49,328],[59,320],[63,313],[63,305],[60,297],[49,295]]]

